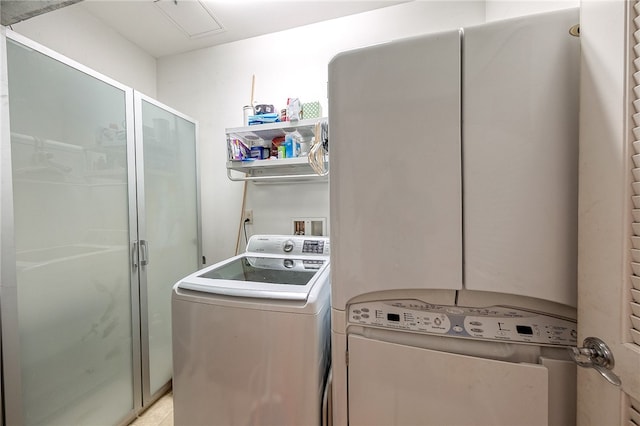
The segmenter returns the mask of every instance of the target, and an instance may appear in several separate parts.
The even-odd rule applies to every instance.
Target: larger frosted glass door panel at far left
[[[7,40],[22,406],[6,409],[26,425],[118,424],[140,372],[133,92],[46,52]]]

